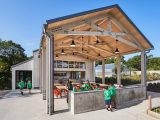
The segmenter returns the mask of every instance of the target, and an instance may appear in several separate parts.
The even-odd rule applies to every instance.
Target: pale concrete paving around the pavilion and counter
[[[160,93],[149,92],[152,95],[153,106],[160,105]],[[147,100],[125,105],[114,112],[105,109],[72,115],[68,111],[66,99],[55,99],[55,114],[46,114],[46,101],[42,94],[34,90],[32,95],[28,91],[24,96],[19,91],[12,91],[0,99],[0,120],[157,120],[146,114]]]

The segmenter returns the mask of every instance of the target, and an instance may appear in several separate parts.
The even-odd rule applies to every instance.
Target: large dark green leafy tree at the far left
[[[0,40],[0,89],[11,88],[11,66],[27,59],[21,45]]]

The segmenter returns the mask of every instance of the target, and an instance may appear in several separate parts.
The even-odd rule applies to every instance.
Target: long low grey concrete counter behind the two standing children
[[[117,107],[145,98],[146,87],[142,86],[128,86],[117,89],[116,92]],[[104,109],[104,107],[103,91],[70,92],[69,108],[73,114]]]

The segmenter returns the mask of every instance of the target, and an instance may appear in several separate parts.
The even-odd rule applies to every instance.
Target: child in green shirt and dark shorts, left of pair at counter
[[[111,92],[108,88],[106,88],[104,90],[104,100],[105,100],[105,103],[106,103],[106,109],[109,111],[112,112],[112,105],[111,105]]]

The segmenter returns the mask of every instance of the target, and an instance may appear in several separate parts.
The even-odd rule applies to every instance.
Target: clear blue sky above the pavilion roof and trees
[[[113,4],[118,4],[153,44],[149,54],[160,57],[160,0],[0,0],[0,38],[20,44],[31,56],[40,46],[46,20]]]

